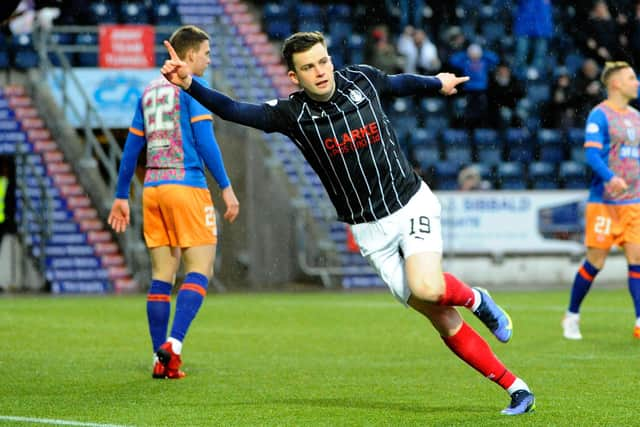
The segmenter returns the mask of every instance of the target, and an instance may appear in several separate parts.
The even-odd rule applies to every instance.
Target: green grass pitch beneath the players
[[[592,291],[581,342],[561,338],[568,291],[493,294],[509,344],[464,315],[532,387],[534,414],[501,416],[507,394],[386,292],[210,294],[180,381],[151,379],[144,295],[4,296],[0,426],[640,425],[626,289]]]

